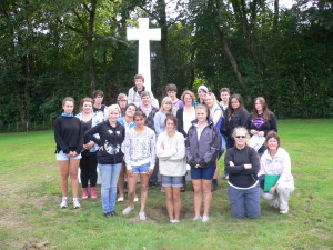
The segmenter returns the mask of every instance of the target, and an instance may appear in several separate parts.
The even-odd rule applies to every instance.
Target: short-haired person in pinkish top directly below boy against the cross
[[[150,92],[143,91],[141,92],[141,106],[139,107],[139,110],[141,110],[145,117],[145,124],[151,128],[153,131],[155,131],[154,128],[154,116],[159,110],[151,104],[151,97]],[[159,161],[155,161],[154,170],[153,173],[149,178],[149,187],[159,187],[160,184],[158,183],[159,177]]]

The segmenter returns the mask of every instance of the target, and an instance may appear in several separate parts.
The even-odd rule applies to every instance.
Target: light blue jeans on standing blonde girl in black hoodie
[[[102,180],[101,198],[104,212],[115,210],[117,182],[121,170],[121,163],[98,164]]]

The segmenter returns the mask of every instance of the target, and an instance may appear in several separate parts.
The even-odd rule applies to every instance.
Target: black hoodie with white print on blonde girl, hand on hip
[[[100,134],[100,139],[93,136],[95,133]],[[109,121],[103,121],[84,133],[84,137],[94,141],[99,147],[103,146],[103,150],[99,150],[97,153],[100,164],[117,164],[122,162],[123,153],[121,151],[121,143],[124,140],[124,136],[125,130],[122,124],[117,122],[115,128],[113,128]]]

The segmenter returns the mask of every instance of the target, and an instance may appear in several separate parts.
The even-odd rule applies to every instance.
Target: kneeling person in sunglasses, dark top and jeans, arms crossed
[[[259,156],[249,146],[250,136],[245,128],[238,127],[232,133],[235,144],[228,149],[224,164],[229,172],[228,197],[231,214],[235,218],[260,217],[260,189],[258,171]]]

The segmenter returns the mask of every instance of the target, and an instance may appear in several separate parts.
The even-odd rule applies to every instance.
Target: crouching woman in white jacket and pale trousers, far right
[[[289,197],[294,191],[294,178],[291,174],[291,160],[289,153],[281,148],[280,137],[276,132],[266,134],[265,146],[268,150],[261,158],[260,179],[265,174],[279,174],[276,184],[262,197],[270,206],[280,208],[280,213],[289,212]]]

